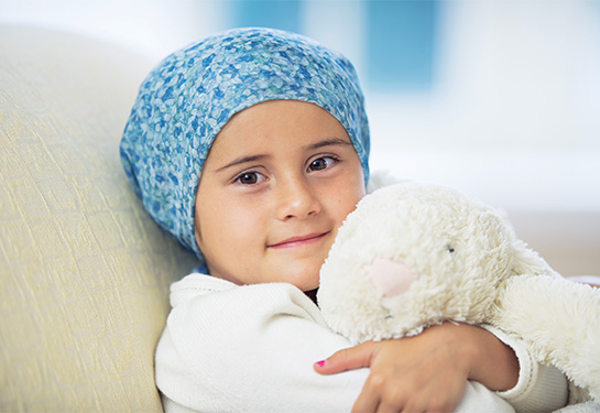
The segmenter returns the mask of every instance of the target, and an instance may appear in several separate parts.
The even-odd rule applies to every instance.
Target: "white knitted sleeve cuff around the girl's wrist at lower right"
[[[544,366],[517,340],[492,326],[482,326],[510,346],[519,359],[519,381],[513,389],[497,392],[519,413],[552,412],[568,402],[568,381],[552,366]]]

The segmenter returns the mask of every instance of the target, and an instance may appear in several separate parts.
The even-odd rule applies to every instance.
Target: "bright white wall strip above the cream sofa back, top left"
[[[221,30],[219,1],[0,0],[0,21],[75,31],[156,58]]]

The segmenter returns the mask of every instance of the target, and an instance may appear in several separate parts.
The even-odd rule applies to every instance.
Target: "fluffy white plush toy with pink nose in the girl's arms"
[[[445,320],[495,326],[600,401],[600,290],[560,276],[459,191],[401,183],[367,195],[338,232],[317,300],[354,344]]]

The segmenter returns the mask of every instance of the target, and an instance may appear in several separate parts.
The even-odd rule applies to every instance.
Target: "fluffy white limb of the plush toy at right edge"
[[[556,366],[600,401],[600,291],[561,278],[513,276],[490,324],[520,337],[538,361]]]

